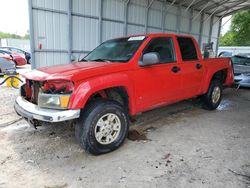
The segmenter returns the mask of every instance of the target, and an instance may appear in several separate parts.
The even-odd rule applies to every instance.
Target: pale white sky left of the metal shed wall
[[[0,0],[0,31],[25,35],[29,29],[28,0]]]

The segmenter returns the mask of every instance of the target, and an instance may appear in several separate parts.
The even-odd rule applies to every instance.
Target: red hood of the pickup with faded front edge
[[[26,79],[35,81],[55,79],[78,81],[97,75],[126,70],[126,64],[121,62],[74,62],[66,65],[38,68],[23,74],[23,76]]]

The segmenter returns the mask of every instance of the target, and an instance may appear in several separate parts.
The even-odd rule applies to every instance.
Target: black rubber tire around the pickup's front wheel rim
[[[95,135],[97,122],[106,114],[119,118],[120,131],[112,143],[102,144]],[[80,146],[93,155],[111,152],[122,145],[128,135],[129,121],[124,108],[116,101],[97,100],[86,106],[75,126],[75,136]],[[105,138],[105,137],[104,137]]]

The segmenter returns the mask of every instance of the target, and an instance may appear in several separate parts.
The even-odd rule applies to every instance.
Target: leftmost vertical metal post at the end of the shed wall
[[[29,31],[30,31],[30,52],[31,52],[31,68],[36,68],[35,61],[35,36],[34,36],[34,26],[33,26],[33,9],[32,0],[29,0]]]

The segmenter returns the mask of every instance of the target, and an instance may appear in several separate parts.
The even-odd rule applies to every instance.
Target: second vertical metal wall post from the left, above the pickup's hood
[[[68,0],[68,62],[71,63],[72,57],[72,0]]]

